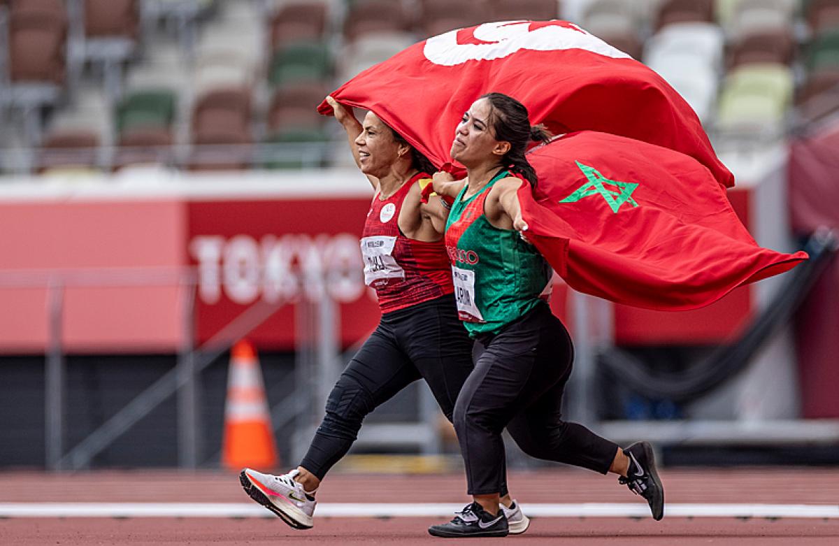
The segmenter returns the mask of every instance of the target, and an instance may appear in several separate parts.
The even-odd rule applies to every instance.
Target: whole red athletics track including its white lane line
[[[512,472],[534,517],[526,544],[839,544],[839,469],[661,472],[666,516],[612,477],[576,469]],[[466,503],[461,474],[335,473],[315,528],[294,531],[250,502],[235,474],[100,471],[0,473],[0,544],[409,544]],[[437,514],[446,514],[437,515]],[[642,517],[639,517],[642,516]],[[470,541],[474,542],[474,541]]]

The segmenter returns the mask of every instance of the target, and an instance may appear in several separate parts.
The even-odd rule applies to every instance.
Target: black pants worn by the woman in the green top
[[[606,474],[618,445],[562,420],[574,348],[547,304],[487,335],[455,406],[470,495],[506,493],[504,427],[524,453]]]

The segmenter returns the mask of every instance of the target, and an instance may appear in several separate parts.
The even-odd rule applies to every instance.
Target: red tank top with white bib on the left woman
[[[386,200],[380,200],[377,192],[367,212],[362,237],[364,283],[376,290],[383,313],[454,292],[445,242],[414,241],[397,225],[405,196],[421,178],[431,177],[417,174]]]

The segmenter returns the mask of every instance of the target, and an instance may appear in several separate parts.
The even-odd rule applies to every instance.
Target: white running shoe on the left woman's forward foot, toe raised
[[[296,468],[288,474],[274,476],[246,468],[239,474],[245,492],[254,501],[277,514],[295,529],[310,529],[314,525],[315,497],[306,495],[303,486],[294,481],[300,474]]]

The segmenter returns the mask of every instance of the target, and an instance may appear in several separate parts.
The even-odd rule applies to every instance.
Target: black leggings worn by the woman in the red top
[[[451,421],[470,372],[472,340],[457,319],[454,296],[383,315],[332,389],[300,466],[322,480],[347,454],[367,414],[420,378]],[[506,482],[501,490],[507,494]]]

